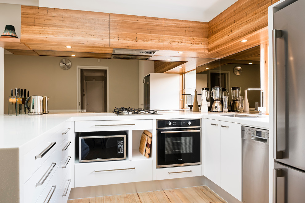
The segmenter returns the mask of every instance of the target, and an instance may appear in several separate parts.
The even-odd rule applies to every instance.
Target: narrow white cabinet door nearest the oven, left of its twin
[[[220,186],[220,121],[205,119],[203,128],[202,174]]]

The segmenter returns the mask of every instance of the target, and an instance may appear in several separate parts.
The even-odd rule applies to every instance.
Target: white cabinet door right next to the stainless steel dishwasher
[[[241,124],[221,121],[220,135],[221,187],[239,201],[242,201]]]

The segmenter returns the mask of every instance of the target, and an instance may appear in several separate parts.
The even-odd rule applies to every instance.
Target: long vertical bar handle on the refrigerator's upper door
[[[273,55],[273,99],[274,99],[274,104],[273,104],[273,112],[274,112],[274,117],[273,117],[273,122],[274,122],[274,148],[273,148],[273,158],[274,159],[281,159],[283,158],[283,151],[278,151],[278,130],[277,130],[277,57],[276,57],[276,47],[277,47],[277,38],[282,37],[282,30],[272,30],[272,55]],[[283,82],[283,81],[281,81]],[[281,90],[282,91],[282,90]]]

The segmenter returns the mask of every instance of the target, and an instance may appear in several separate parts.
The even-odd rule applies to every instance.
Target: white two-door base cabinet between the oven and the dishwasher
[[[241,124],[204,120],[202,174],[242,201]]]

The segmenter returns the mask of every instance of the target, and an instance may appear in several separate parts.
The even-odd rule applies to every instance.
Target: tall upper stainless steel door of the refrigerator
[[[305,1],[274,13],[274,142],[277,161],[305,170]],[[275,34],[275,31],[274,31]]]

